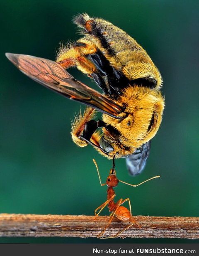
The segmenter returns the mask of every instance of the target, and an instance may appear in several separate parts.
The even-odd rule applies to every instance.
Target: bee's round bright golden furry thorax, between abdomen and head
[[[164,98],[160,91],[143,86],[129,86],[121,94],[119,101],[126,106],[124,119],[118,121],[106,116],[104,121],[111,123],[122,135],[121,144],[139,148],[158,131],[162,121]]]

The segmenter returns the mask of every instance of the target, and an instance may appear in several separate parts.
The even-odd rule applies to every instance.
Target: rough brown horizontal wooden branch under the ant
[[[199,238],[199,217],[133,217],[141,228],[135,224],[119,237]],[[96,237],[109,219],[107,216],[0,214],[0,236]],[[104,237],[114,236],[129,224],[114,218]]]

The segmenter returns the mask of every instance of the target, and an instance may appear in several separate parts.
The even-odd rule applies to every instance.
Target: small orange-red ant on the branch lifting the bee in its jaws
[[[95,161],[95,159],[93,159],[93,162],[97,168],[97,173],[99,176],[99,182],[101,186],[107,185],[108,189],[107,189],[107,200],[106,202],[104,202],[103,204],[101,204],[99,207],[97,207],[97,209],[95,209],[95,216],[99,215],[100,212],[102,212],[102,210],[104,209],[104,207],[106,205],[108,205],[109,208],[109,212],[111,212],[110,216],[112,216],[112,218],[109,220],[107,226],[104,228],[104,230],[97,236],[98,238],[101,239],[107,239],[107,238],[114,238],[116,236],[119,236],[122,232],[124,232],[126,229],[129,229],[131,226],[133,226],[133,224],[136,224],[139,228],[141,228],[141,226],[135,221],[135,219],[133,218],[132,214],[131,214],[131,202],[129,198],[126,199],[119,199],[119,201],[117,201],[116,203],[114,202],[114,197],[116,196],[115,191],[113,189],[113,187],[116,187],[118,185],[118,182],[122,182],[126,185],[132,186],[132,187],[138,187],[139,185],[149,181],[149,180],[153,180],[155,178],[159,178],[160,176],[155,176],[152,177],[148,180],[145,180],[141,183],[139,183],[138,185],[132,185],[129,183],[126,183],[124,181],[118,180],[116,177],[116,171],[115,171],[115,161],[113,158],[113,167],[109,172],[109,176],[107,177],[107,181],[106,183],[102,184],[101,182],[101,178],[99,175],[99,169],[97,166],[97,163]],[[124,202],[128,201],[129,202],[129,209],[127,209],[124,206],[121,206],[121,204],[124,204]],[[100,209],[100,210],[99,210]],[[99,212],[97,213],[97,211],[99,210]],[[109,226],[109,224],[112,222],[113,217],[116,216],[117,219],[121,220],[121,221],[130,221],[133,222],[131,225],[127,226],[125,229],[123,229],[122,231],[119,231],[115,236],[109,236],[109,237],[100,237],[102,236],[102,234],[104,234],[105,230],[107,229],[107,227]]]

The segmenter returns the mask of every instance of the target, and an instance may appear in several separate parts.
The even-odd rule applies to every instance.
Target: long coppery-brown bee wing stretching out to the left
[[[120,118],[117,115],[123,110],[121,105],[108,96],[100,94],[98,91],[75,80],[56,62],[24,54],[6,53],[6,57],[20,71],[39,84],[67,98],[92,106],[113,118]]]

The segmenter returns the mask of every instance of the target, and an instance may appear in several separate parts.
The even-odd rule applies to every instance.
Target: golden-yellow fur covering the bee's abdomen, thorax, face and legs
[[[155,79],[156,86],[153,89],[143,86],[127,86],[118,96],[117,101],[126,106],[124,113],[120,115],[125,117],[122,121],[114,119],[103,114],[102,120],[116,128],[121,135],[115,136],[106,128],[102,128],[104,138],[114,148],[114,151],[106,155],[96,148],[102,155],[112,158],[124,157],[134,152],[136,148],[141,147],[148,142],[157,133],[164,110],[164,98],[159,89],[163,84],[163,79],[158,68],[150,59],[146,51],[130,37],[126,32],[112,25],[112,23],[99,18],[90,18],[87,14],[75,18],[76,24],[85,28],[83,38],[71,44],[66,48],[61,47],[57,57],[57,62],[64,68],[76,66],[85,74],[96,72],[95,65],[87,59],[88,54],[95,54],[99,49],[114,69],[124,74],[130,81],[138,78]],[[93,26],[97,27],[101,33],[101,39],[95,34],[91,34]],[[108,46],[102,42],[105,39]],[[82,43],[82,44],[81,44]],[[71,135],[73,141],[80,147],[87,145],[87,142],[80,140],[78,135],[83,132],[85,123],[92,119],[94,110],[87,108],[83,116],[80,114],[75,118],[72,124]],[[153,125],[150,122],[153,118]],[[150,127],[150,128],[149,128]],[[102,134],[95,132],[91,141],[97,143]],[[98,143],[99,144],[99,143]]]

